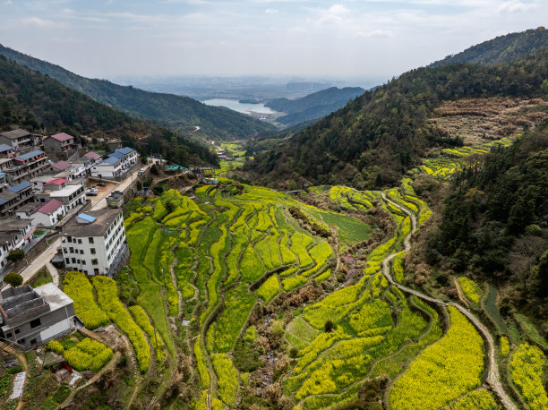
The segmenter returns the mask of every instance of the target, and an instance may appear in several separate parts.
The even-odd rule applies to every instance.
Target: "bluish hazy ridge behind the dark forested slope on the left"
[[[210,107],[188,97],[143,91],[71,73],[56,64],[26,56],[0,45],[0,55],[31,70],[47,74],[65,86],[126,114],[147,119],[176,132],[190,133],[196,125],[200,133],[215,140],[251,138],[274,126],[225,107]]]

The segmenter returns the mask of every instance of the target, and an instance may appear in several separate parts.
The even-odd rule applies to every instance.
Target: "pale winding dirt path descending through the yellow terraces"
[[[417,228],[415,214],[413,214],[413,212],[411,212],[410,210],[402,207],[398,203],[387,199],[384,192],[381,192],[381,197],[384,201],[390,202],[392,205],[394,205],[398,209],[401,209],[402,211],[404,211],[409,216],[409,218],[411,218],[411,223],[412,223],[411,232],[407,234],[407,236],[404,238],[404,241],[403,241],[404,250],[408,252],[411,249],[411,243],[410,243],[411,235],[415,233]],[[400,285],[397,282],[395,282],[392,276],[390,275],[390,261],[394,259],[395,257],[396,257],[396,253],[392,253],[382,261],[382,274],[388,279],[388,281],[390,282],[392,286],[396,286],[402,292],[415,295],[428,302],[437,303],[442,306],[449,305],[457,308],[458,311],[462,312],[468,318],[468,320],[472,322],[475,328],[478,329],[484,335],[484,340],[487,342],[487,346],[488,346],[487,357],[489,361],[488,368],[487,368],[487,383],[491,386],[492,390],[499,397],[499,399],[501,400],[502,406],[504,406],[504,408],[507,408],[510,410],[517,410],[518,407],[514,405],[514,403],[509,398],[509,396],[504,391],[504,388],[502,387],[501,376],[499,373],[499,366],[497,365],[497,362],[495,360],[494,341],[491,333],[489,332],[489,329],[487,329],[484,326],[484,324],[479,319],[477,319],[474,314],[472,314],[472,312],[468,311],[466,308],[464,308],[460,304],[454,303],[454,302],[450,302],[450,303],[443,302],[441,299],[436,299],[434,297],[424,295],[420,292],[415,291],[414,289],[411,289],[407,286]]]

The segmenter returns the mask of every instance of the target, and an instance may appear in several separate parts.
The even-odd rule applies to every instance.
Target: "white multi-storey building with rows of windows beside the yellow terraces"
[[[81,213],[63,229],[64,265],[87,275],[113,276],[129,252],[121,209]]]

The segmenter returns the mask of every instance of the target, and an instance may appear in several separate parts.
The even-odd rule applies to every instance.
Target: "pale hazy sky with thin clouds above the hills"
[[[0,0],[0,43],[100,78],[388,79],[547,16],[548,0]]]

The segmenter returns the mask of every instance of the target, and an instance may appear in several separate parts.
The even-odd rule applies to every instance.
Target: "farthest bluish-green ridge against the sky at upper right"
[[[545,48],[548,48],[548,30],[539,27],[536,30],[510,33],[484,41],[454,56],[447,56],[443,60],[436,61],[430,66],[436,67],[452,63],[508,63],[518,57],[528,56]]]

